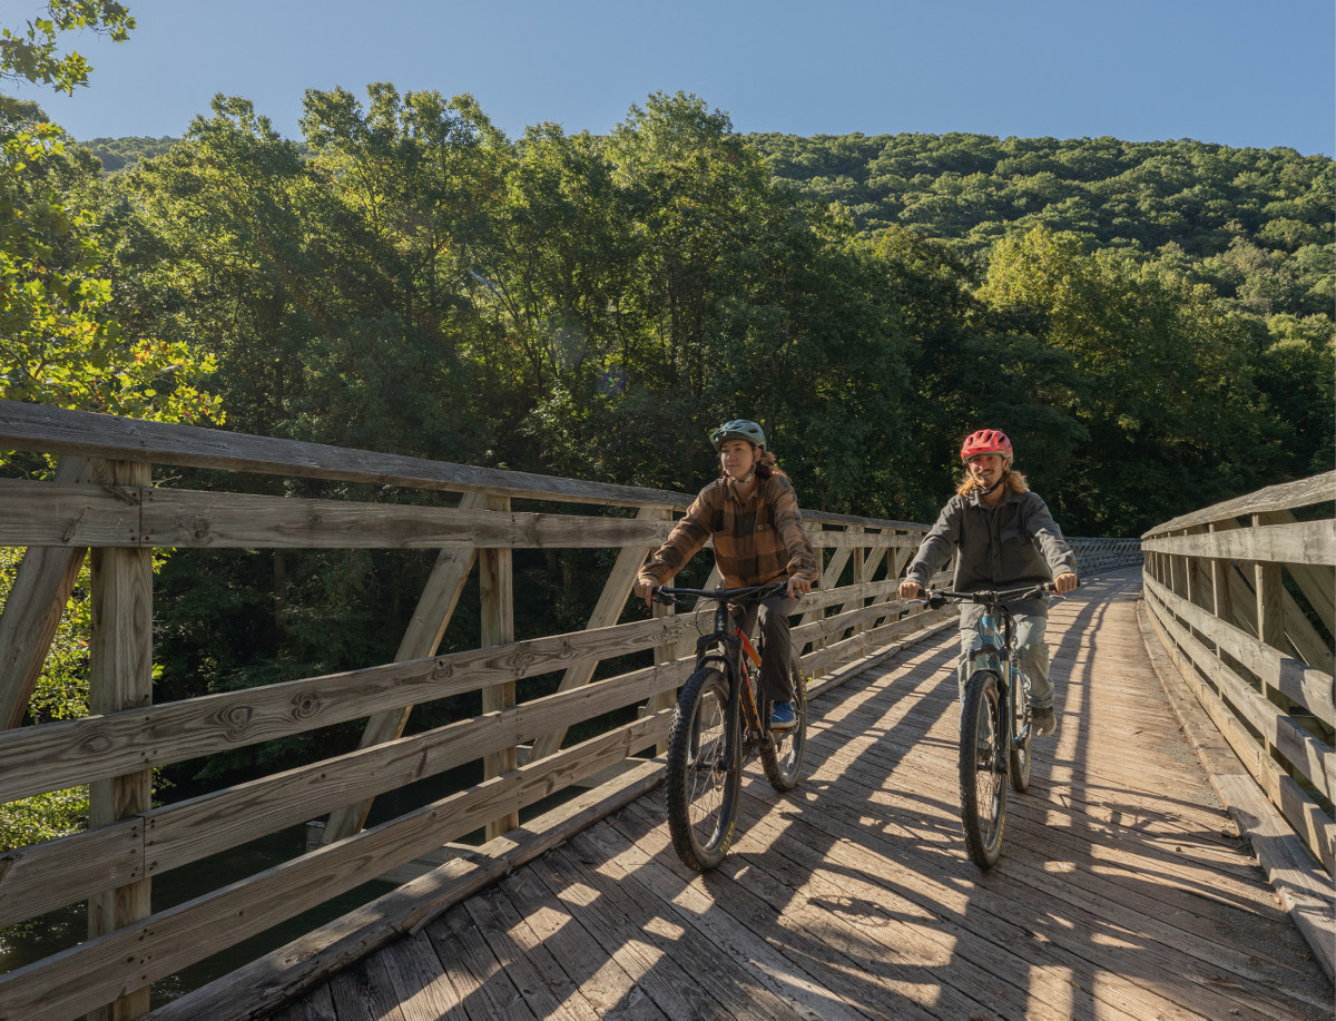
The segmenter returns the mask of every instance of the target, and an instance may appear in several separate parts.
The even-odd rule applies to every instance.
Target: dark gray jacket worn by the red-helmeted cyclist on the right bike
[[[957,592],[1019,588],[1051,581],[1065,571],[1075,573],[1077,569],[1075,553],[1037,493],[1007,489],[1002,502],[994,508],[979,502],[978,489],[953,496],[925,536],[904,577],[927,588],[929,579],[957,549],[961,552],[953,583]],[[1018,613],[1047,613],[1042,599],[1010,605]],[[963,604],[961,627],[974,627],[982,612],[982,607]]]

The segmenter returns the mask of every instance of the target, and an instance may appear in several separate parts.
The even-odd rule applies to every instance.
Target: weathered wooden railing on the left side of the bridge
[[[486,827],[486,847],[509,841],[532,857],[562,827],[587,825],[578,782],[629,766],[621,780],[629,798],[659,770],[652,756],[689,670],[693,641],[683,639],[695,637],[696,624],[691,615],[621,617],[636,569],[688,496],[4,401],[0,449],[59,457],[53,481],[0,480],[0,545],[27,549],[0,616],[0,802],[91,786],[87,831],[0,855],[0,929],[67,905],[90,906],[86,942],[0,977],[3,1018],[142,1016],[151,984],[224,947],[398,866],[433,854],[445,861],[478,827]],[[163,466],[440,490],[458,501],[259,496],[240,492],[240,481],[228,492],[190,490],[155,485]],[[553,513],[554,505],[570,510]],[[804,512],[804,524],[824,565],[794,631],[804,675],[828,676],[950,616],[918,612],[895,596],[922,525],[815,512]],[[154,704],[152,551],[202,547],[440,552],[395,662]],[[620,551],[587,629],[516,640],[510,556],[522,548]],[[90,551],[94,715],[19,726]],[[437,655],[472,577],[481,592],[481,647]],[[628,655],[643,666],[593,680],[601,662]],[[530,696],[526,682],[553,674],[561,675],[557,691]],[[480,715],[403,736],[413,706],[461,692],[481,692]],[[565,740],[570,727],[627,707],[639,707],[632,722]],[[151,805],[155,768],[358,719],[366,726],[355,751]],[[377,795],[480,759],[477,786],[363,829]],[[572,794],[570,807],[516,829],[521,809],[560,791]],[[306,854],[152,910],[155,877],[326,815],[322,838]],[[516,863],[486,859],[456,858],[382,898],[353,942],[365,952],[422,923],[461,883],[481,883],[488,869]],[[285,960],[309,972],[323,954],[333,968],[345,937],[346,929],[326,926]],[[270,980],[251,973],[231,992]],[[223,1002],[226,982],[219,989]],[[178,1016],[208,1016],[208,996],[175,1001]]]

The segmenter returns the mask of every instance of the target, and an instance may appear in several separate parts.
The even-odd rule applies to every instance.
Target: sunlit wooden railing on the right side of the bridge
[[[1252,778],[1252,790],[1234,790],[1232,800],[1246,806],[1260,788],[1263,806],[1269,800],[1289,830],[1269,827],[1265,810],[1250,811],[1256,823],[1246,829],[1283,898],[1299,889],[1287,877],[1300,877],[1315,859],[1329,893],[1336,865],[1333,501],[1336,472],[1329,472],[1142,536],[1154,625]],[[1331,919],[1320,917],[1329,914],[1329,898],[1311,910],[1300,901],[1295,894],[1291,913],[1309,942],[1325,946],[1331,974]]]

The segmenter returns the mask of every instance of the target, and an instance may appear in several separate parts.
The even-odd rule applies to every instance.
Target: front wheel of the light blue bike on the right
[[[993,671],[970,675],[961,711],[961,822],[965,846],[979,869],[991,869],[1002,851],[1006,822],[1006,722]]]

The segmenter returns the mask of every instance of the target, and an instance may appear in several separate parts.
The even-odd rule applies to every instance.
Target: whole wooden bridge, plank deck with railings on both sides
[[[693,623],[621,621],[680,494],[4,402],[0,445],[61,457],[56,481],[0,482],[0,544],[29,551],[0,617],[0,704],[25,703],[88,549],[96,621],[96,715],[0,734],[0,800],[94,784],[87,833],[0,857],[0,926],[88,899],[91,933],[0,977],[0,1018],[1332,1016],[1332,691],[1312,662],[1332,633],[1331,476],[1148,533],[1145,576],[1118,567],[1129,544],[1078,543],[1088,581],[1049,636],[1059,728],[986,875],[959,835],[954,621],[894,595],[923,527],[806,513],[826,563],[795,628],[808,778],[780,796],[758,771],[735,850],[697,877],[653,756]],[[164,489],[155,464],[462,497]],[[1228,547],[1225,521],[1242,524]],[[192,545],[441,552],[399,662],[152,706],[147,556]],[[597,545],[623,553],[591,628],[514,640],[509,551]],[[434,655],[474,565],[484,648]],[[645,667],[593,680],[636,649]],[[553,671],[554,691],[525,691]],[[478,716],[403,736],[413,703],[458,691],[481,692]],[[641,708],[565,739],[619,706]],[[359,718],[355,752],[148,803],[155,764]],[[478,786],[362,829],[365,799],[480,758]],[[326,814],[306,855],[154,911],[154,875]],[[401,866],[415,875],[393,893],[150,1002],[152,982]]]

